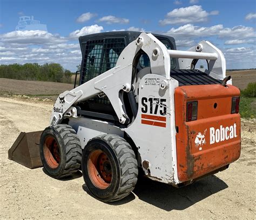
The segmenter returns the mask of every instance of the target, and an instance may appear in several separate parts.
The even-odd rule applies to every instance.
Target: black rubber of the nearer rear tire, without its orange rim
[[[95,186],[89,175],[88,161],[90,155],[97,150],[103,151],[111,164],[112,179],[105,189]],[[103,202],[113,202],[122,200],[134,189],[138,177],[138,162],[132,147],[124,138],[103,134],[93,138],[85,146],[82,172],[86,186],[93,196]]]

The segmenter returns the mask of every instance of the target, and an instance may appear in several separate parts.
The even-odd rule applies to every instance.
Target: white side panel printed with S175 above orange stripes
[[[167,86],[161,89],[163,83]],[[136,144],[142,162],[148,161],[150,164],[149,169],[144,169],[147,176],[175,184],[177,166],[173,91],[177,86],[176,80],[167,80],[156,74],[145,75],[139,85],[137,117],[125,129]]]

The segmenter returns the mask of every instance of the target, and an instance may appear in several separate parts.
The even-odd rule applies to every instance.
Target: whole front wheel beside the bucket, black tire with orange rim
[[[40,156],[46,172],[60,179],[76,173],[82,148],[76,131],[66,124],[46,127],[40,139]]]

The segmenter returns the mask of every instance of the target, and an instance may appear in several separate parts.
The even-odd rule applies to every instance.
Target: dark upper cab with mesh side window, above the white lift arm
[[[133,40],[139,37],[136,31],[114,31],[96,33],[79,37],[82,50],[82,63],[80,71],[80,84],[106,72],[116,65],[118,57],[123,49]],[[176,49],[175,40],[169,36],[153,34],[167,49]],[[171,60],[171,68],[177,68],[176,59]],[[150,60],[145,53],[139,58],[138,68],[150,66]]]

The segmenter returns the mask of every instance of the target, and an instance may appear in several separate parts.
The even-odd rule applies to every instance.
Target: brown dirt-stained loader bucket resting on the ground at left
[[[39,152],[39,141],[42,132],[21,132],[8,151],[8,159],[30,169],[42,167]]]

